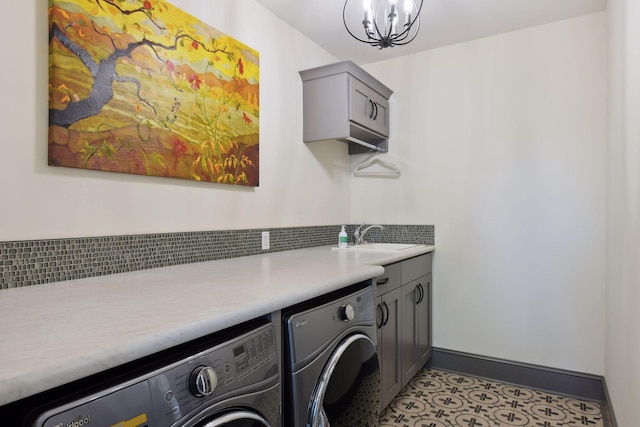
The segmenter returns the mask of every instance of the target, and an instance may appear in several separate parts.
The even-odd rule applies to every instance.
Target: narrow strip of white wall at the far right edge
[[[640,402],[640,4],[609,0],[610,132],[605,377],[618,425]]]

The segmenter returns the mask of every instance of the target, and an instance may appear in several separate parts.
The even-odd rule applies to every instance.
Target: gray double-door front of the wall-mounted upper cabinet
[[[354,77],[349,77],[349,120],[389,136],[389,101]]]

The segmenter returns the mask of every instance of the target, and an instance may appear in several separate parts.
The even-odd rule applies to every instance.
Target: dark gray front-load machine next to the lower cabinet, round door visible
[[[374,307],[363,282],[283,312],[285,427],[378,425]]]

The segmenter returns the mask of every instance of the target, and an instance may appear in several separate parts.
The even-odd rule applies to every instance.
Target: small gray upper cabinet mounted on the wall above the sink
[[[351,61],[300,71],[304,142],[339,140],[349,154],[386,152],[393,93]]]

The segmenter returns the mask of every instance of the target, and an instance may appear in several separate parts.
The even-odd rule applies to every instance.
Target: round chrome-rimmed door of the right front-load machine
[[[378,425],[380,365],[368,336],[347,337],[322,370],[309,404],[311,427]]]

